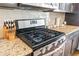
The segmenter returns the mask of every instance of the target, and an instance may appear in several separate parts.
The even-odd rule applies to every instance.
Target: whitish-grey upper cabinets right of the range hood
[[[72,3],[52,3],[52,5],[55,7],[53,12],[72,13],[74,9]]]

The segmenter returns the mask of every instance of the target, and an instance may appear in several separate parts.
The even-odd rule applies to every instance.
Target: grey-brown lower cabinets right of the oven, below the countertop
[[[77,48],[79,40],[79,31],[73,32],[66,37],[65,56],[70,56]]]

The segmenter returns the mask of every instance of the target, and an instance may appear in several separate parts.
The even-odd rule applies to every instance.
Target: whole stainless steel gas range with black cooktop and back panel
[[[56,55],[54,51],[65,41],[64,33],[46,28],[44,18],[16,20],[16,26],[17,36],[33,49],[34,56]]]

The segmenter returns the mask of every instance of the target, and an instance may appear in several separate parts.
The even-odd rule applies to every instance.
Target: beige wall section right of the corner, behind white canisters
[[[60,19],[60,23],[59,26],[62,25],[62,23],[65,20],[65,13],[61,13],[61,12],[50,12],[49,13],[49,26],[53,26],[55,24],[55,19]]]

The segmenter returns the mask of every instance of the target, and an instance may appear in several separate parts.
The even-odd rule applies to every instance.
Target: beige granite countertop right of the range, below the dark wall
[[[68,35],[68,34],[70,34],[72,32],[75,32],[75,31],[79,30],[79,26],[64,25],[62,27],[57,27],[57,28],[55,28],[53,30],[64,32],[66,35]]]

